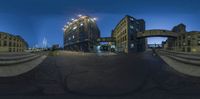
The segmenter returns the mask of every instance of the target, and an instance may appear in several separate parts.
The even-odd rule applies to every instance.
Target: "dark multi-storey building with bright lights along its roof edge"
[[[64,26],[64,49],[74,51],[94,51],[98,45],[100,30],[96,18],[79,16]]]

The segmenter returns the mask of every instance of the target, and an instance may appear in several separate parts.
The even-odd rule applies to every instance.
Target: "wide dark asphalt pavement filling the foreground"
[[[2,95],[37,98],[200,98],[199,78],[174,71],[151,52],[118,56],[52,53],[29,73],[0,78],[0,89]]]

